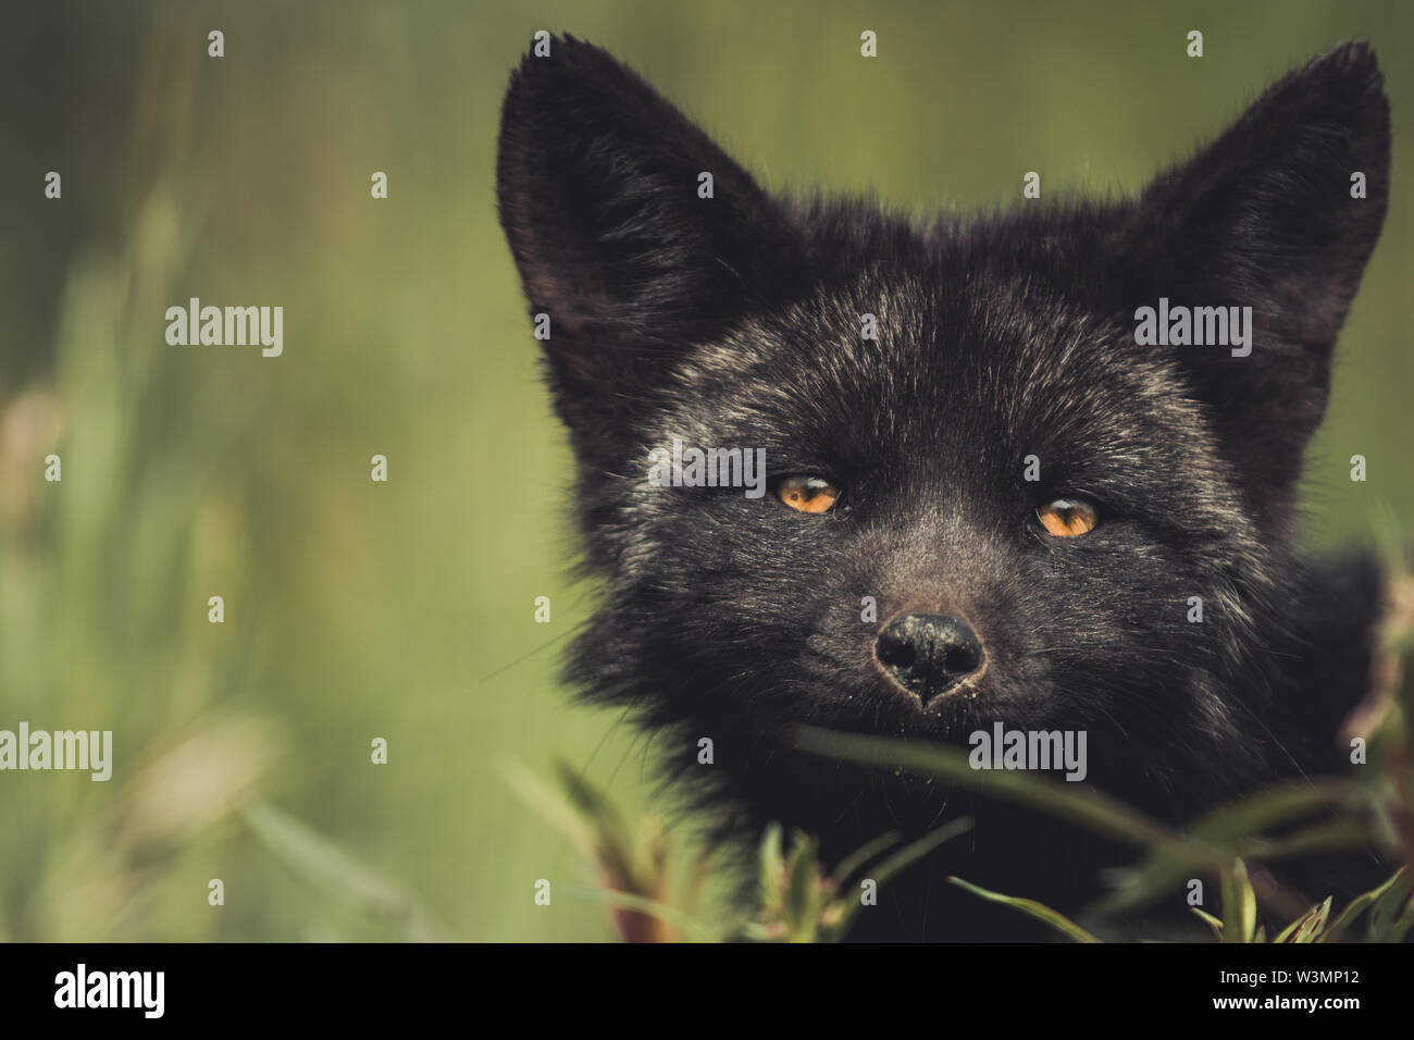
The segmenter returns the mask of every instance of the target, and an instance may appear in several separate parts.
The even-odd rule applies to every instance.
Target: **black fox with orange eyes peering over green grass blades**
[[[1137,198],[919,224],[766,194],[553,38],[512,75],[498,200],[605,580],[568,678],[741,838],[781,821],[833,862],[971,815],[855,938],[1027,938],[936,879],[1070,908],[1133,853],[806,754],[797,724],[1083,732],[1083,782],[1174,824],[1338,771],[1381,577],[1297,550],[1297,484],[1389,166],[1349,42]],[[765,494],[652,480],[674,441],[764,449]]]

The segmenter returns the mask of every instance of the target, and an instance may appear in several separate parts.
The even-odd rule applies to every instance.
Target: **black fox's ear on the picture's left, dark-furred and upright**
[[[799,291],[806,258],[788,212],[653,88],[573,37],[549,47],[510,78],[496,195],[583,457],[693,342]]]

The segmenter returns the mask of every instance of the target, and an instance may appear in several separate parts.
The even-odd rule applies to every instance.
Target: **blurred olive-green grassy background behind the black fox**
[[[0,940],[612,934],[590,901],[534,906],[536,879],[592,872],[502,777],[563,757],[663,807],[648,741],[556,683],[594,590],[567,577],[571,460],[493,208],[501,96],[539,28],[608,47],[771,188],[918,214],[1011,205],[1028,170],[1048,194],[1135,191],[1291,65],[1372,40],[1396,184],[1311,538],[1414,507],[1404,0],[7,3],[6,23],[0,727],[112,729],[116,767],[0,774]],[[284,355],[168,347],[189,296],[283,306]]]

